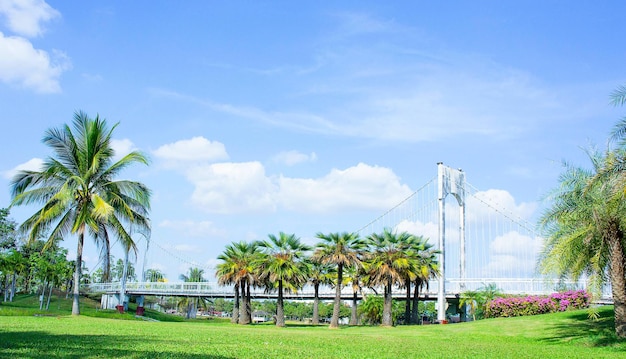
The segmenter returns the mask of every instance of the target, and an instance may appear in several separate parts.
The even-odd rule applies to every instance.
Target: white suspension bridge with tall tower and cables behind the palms
[[[542,238],[527,222],[532,211],[517,205],[504,190],[480,191],[465,179],[465,173],[438,163],[437,176],[414,191],[378,218],[356,232],[362,237],[380,233],[385,228],[407,231],[429,238],[441,251],[438,261],[441,276],[432,280],[422,299],[437,300],[440,320],[445,318],[447,303],[458,300],[466,290],[479,290],[487,284],[495,285],[506,294],[541,295],[563,289],[585,289],[587,283],[563,282],[541,276],[537,260]],[[216,282],[137,282],[126,283],[127,296],[199,296],[232,298],[232,287]],[[85,288],[91,292],[119,294],[120,283],[93,283]],[[366,289],[358,298],[373,293]],[[382,292],[382,289],[377,291]],[[334,298],[333,288],[320,289],[321,299]],[[342,297],[352,298],[352,288],[343,288]],[[405,289],[395,289],[396,298],[404,298]],[[276,293],[253,288],[253,298],[275,298]],[[611,297],[605,288],[602,297]],[[119,298],[119,296],[118,296]],[[313,288],[304,287],[297,293],[286,293],[287,299],[312,299]]]

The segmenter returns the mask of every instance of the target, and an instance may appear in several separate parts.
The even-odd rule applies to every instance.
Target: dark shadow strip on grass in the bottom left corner
[[[141,340],[137,338],[136,340]],[[222,355],[191,354],[158,348],[134,349],[125,336],[50,334],[43,331],[0,332],[0,358],[183,358],[232,359]],[[158,345],[155,345],[158,347]]]

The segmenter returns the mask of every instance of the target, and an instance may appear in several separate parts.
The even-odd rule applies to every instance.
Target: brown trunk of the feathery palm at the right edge
[[[615,308],[615,333],[618,337],[626,338],[626,271],[624,268],[624,246],[622,233],[617,228],[608,236],[611,253],[611,288]]]

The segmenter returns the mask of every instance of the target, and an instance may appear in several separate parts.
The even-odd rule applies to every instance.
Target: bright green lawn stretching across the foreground
[[[626,357],[626,341],[613,334],[611,307],[600,311],[598,321],[589,321],[586,311],[575,311],[474,323],[338,330],[298,324],[287,328],[237,326],[210,320],[149,322],[83,308],[87,315],[72,317],[64,313],[61,304],[56,314],[47,316],[0,306],[0,357]],[[117,319],[106,317],[111,315]]]

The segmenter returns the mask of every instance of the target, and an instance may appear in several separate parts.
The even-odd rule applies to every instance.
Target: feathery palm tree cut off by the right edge
[[[615,305],[615,331],[626,337],[626,201],[622,182],[626,152],[587,150],[592,168],[570,164],[550,194],[540,219],[545,241],[541,255],[544,273],[578,279],[590,277],[596,288],[607,279]],[[608,273],[608,278],[606,273]]]

